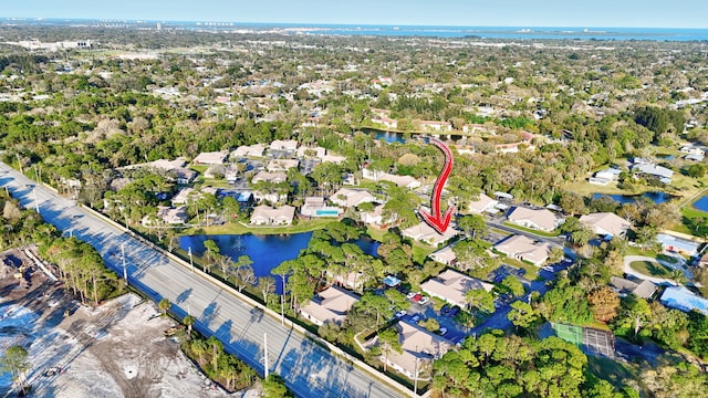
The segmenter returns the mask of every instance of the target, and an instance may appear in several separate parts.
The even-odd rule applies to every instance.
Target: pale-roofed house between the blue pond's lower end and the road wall
[[[317,326],[326,322],[341,324],[346,313],[358,302],[358,295],[337,286],[330,286],[317,293],[300,308],[300,315]]]

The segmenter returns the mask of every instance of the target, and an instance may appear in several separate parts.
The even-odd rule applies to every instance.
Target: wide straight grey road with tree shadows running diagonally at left
[[[128,282],[159,301],[167,297],[179,316],[189,312],[195,328],[215,334],[225,348],[263,374],[263,335],[268,334],[269,368],[283,377],[299,397],[399,397],[400,392],[347,364],[300,333],[272,320],[228,291],[190,272],[158,251],[128,235],[74,201],[28,179],[0,163],[0,185],[22,206],[35,207],[48,222],[96,248],[123,275],[124,244]],[[258,261],[258,259],[256,259]]]

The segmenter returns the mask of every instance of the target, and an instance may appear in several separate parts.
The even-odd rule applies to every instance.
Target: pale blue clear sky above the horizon
[[[707,0],[1,0],[0,18],[708,29]]]

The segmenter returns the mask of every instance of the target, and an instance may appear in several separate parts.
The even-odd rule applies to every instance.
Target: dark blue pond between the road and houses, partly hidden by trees
[[[285,260],[292,260],[300,254],[300,251],[308,247],[312,238],[312,232],[282,234],[282,235],[258,235],[258,234],[220,234],[220,235],[187,235],[179,238],[179,247],[195,255],[202,255],[205,252],[204,242],[214,240],[219,247],[221,254],[231,259],[239,255],[248,255],[253,260],[253,272],[256,276],[271,275],[270,271],[280,265]],[[372,255],[376,255],[378,242],[362,238],[354,241],[356,245]],[[277,277],[278,279],[278,277]],[[280,282],[280,281],[278,281]],[[282,292],[282,284],[277,283],[277,293]]]

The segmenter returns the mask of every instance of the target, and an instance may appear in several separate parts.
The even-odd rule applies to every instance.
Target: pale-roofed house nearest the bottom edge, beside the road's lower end
[[[430,379],[429,373],[421,374],[421,370],[429,368],[429,365],[445,355],[452,347],[452,344],[442,336],[405,321],[400,321],[392,327],[398,329],[398,343],[402,352],[382,355],[382,362],[410,379]]]

